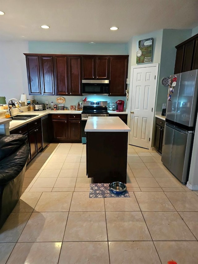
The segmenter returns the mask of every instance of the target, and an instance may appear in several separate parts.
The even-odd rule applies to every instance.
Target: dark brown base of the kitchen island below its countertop
[[[127,181],[128,132],[87,132],[87,175],[93,183]]]

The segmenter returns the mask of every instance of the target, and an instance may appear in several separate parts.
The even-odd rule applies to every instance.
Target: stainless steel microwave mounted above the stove
[[[82,80],[82,94],[109,95],[109,80]]]

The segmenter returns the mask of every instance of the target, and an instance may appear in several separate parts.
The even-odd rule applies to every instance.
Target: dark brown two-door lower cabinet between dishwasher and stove
[[[52,114],[53,142],[80,143],[81,115]]]

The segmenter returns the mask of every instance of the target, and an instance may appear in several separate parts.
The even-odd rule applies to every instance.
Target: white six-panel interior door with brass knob
[[[129,144],[151,146],[157,66],[133,68]]]

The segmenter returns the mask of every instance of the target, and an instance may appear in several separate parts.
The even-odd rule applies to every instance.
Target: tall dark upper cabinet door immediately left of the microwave
[[[81,57],[68,57],[68,78],[70,95],[82,95]]]

